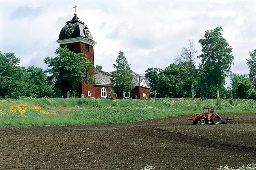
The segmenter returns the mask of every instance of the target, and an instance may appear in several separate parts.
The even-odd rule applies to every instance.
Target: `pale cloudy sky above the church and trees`
[[[76,13],[93,35],[95,65],[113,71],[119,51],[131,68],[174,63],[182,47],[206,30],[223,27],[233,48],[234,73],[248,74],[246,59],[256,49],[256,0],[0,0],[0,50],[14,52],[20,65],[47,68],[59,46],[61,28]]]

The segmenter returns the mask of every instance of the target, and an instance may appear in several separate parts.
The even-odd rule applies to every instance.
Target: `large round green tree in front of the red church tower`
[[[86,54],[74,53],[67,46],[58,47],[54,54],[56,57],[45,59],[45,63],[48,64],[46,72],[50,74],[52,86],[56,91],[60,91],[61,95],[67,96],[67,91],[76,91],[78,85],[86,79],[86,69],[89,72],[89,81],[94,82],[91,76],[94,66],[85,58]]]

